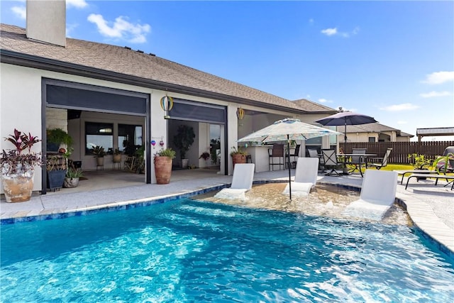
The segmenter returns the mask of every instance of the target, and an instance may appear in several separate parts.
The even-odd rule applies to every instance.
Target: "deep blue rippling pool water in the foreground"
[[[1,302],[453,302],[407,226],[182,199],[1,226]]]

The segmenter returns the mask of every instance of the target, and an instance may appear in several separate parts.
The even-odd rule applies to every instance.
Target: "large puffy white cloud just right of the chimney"
[[[95,23],[99,33],[105,37],[127,40],[130,43],[145,43],[147,41],[145,35],[150,32],[150,26],[129,23],[125,18],[117,17],[114,23],[109,22],[112,26],[109,26],[109,23],[99,14],[92,13],[87,20]]]

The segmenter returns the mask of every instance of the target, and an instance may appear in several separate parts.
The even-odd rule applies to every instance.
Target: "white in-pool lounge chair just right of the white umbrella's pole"
[[[295,180],[292,182],[292,195],[307,196],[317,182],[319,158],[298,158]],[[289,194],[289,184],[282,194]]]

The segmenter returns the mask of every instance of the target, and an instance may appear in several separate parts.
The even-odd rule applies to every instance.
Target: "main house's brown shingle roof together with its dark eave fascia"
[[[287,99],[138,50],[71,38],[64,48],[28,39],[24,28],[6,24],[0,36],[1,62],[310,114]]]

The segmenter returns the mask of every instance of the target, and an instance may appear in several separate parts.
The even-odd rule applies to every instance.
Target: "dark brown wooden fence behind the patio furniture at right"
[[[352,153],[352,148],[366,148],[367,153],[375,153],[383,157],[387,148],[392,148],[389,162],[396,164],[411,164],[410,154],[425,155],[428,159],[435,159],[448,146],[454,146],[454,141],[428,141],[428,142],[351,142],[339,143],[344,153]]]

